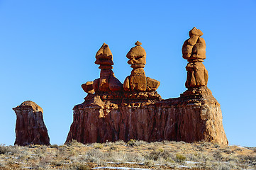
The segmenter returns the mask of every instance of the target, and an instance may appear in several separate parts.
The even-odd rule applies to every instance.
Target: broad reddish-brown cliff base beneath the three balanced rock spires
[[[207,87],[185,91],[180,98],[110,102],[92,95],[74,106],[67,141],[82,143],[130,139],[148,142],[205,140],[228,144],[219,103]]]

